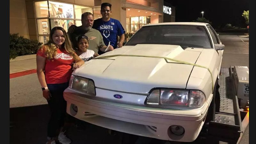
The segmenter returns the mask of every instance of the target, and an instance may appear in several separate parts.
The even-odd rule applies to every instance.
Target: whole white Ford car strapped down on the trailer
[[[145,25],[73,72],[67,113],[120,132],[194,141],[212,119],[223,50],[207,23]]]

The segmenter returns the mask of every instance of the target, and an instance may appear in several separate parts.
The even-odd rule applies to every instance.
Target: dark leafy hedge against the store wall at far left
[[[10,60],[21,55],[36,54],[42,44],[37,40],[29,40],[19,36],[18,33],[10,34]]]

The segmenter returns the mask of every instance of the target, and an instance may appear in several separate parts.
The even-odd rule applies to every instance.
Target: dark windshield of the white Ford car
[[[144,26],[125,45],[172,44],[212,48],[204,26],[157,25]]]

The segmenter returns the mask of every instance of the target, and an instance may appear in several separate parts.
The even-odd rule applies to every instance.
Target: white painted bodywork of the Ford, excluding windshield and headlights
[[[206,23],[175,22],[158,25],[196,25]],[[208,35],[210,35],[207,30]],[[210,41],[213,44],[212,36]],[[221,42],[220,42],[221,44]],[[185,61],[206,68],[180,64],[162,58],[148,57],[111,57],[93,59],[76,69],[73,75],[92,79],[96,96],[68,87],[64,92],[67,101],[67,113],[83,121],[120,132],[152,137],[161,140],[191,142],[194,141],[204,124],[208,107],[212,100],[212,85],[220,72],[222,51],[213,48],[187,48],[178,45],[137,44],[123,46],[101,56],[108,55],[144,55],[167,57]],[[206,102],[200,108],[171,107],[156,108],[146,106],[149,92],[156,87],[200,90]],[[116,99],[113,95],[122,95]],[[77,113],[71,107],[75,104]],[[181,125],[185,133],[181,136],[168,131],[171,125]]]

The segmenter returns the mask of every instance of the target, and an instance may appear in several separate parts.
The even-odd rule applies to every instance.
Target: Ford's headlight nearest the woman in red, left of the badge
[[[72,75],[69,81],[70,88],[95,96],[95,86],[91,79]]]

